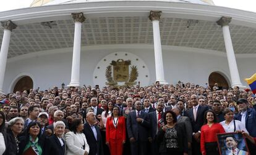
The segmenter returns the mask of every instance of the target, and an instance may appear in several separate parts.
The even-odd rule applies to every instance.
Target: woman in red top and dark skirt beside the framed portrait
[[[202,155],[218,155],[217,133],[225,133],[222,125],[217,122],[217,116],[212,110],[205,111],[204,124],[201,127]]]

